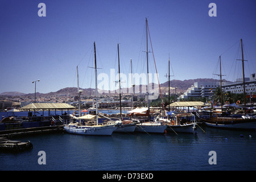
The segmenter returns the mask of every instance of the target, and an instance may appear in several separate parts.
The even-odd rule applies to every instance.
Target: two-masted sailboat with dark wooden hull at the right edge
[[[243,65],[243,44],[241,39],[242,49],[242,69],[243,69],[243,96],[244,106],[246,107],[246,93],[245,93],[245,72]],[[232,117],[232,113],[227,113],[222,110],[222,81],[221,81],[221,56],[220,56],[220,86],[221,86],[221,111],[204,111],[208,116],[203,119],[207,126],[217,127],[222,129],[237,129],[237,130],[256,130],[256,116],[255,115],[241,115],[240,117]]]

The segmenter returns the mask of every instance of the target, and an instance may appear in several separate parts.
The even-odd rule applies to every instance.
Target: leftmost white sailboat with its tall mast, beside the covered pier
[[[112,135],[113,131],[117,129],[113,124],[98,124],[98,99],[97,99],[97,63],[96,63],[96,46],[94,42],[94,64],[95,64],[95,85],[96,85],[96,125],[81,125],[80,123],[69,123],[64,125],[64,130],[71,134],[79,135]],[[92,119],[94,116],[90,117]],[[82,119],[79,117],[78,119]]]

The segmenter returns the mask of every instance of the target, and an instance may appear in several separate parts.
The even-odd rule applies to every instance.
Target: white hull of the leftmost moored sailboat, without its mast
[[[65,125],[64,130],[71,134],[77,135],[112,135],[113,131],[117,129],[114,125],[107,126],[69,126]]]

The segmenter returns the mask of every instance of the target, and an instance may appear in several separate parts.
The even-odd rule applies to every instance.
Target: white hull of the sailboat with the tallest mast
[[[142,133],[159,133],[162,134],[167,129],[167,125],[158,125],[158,123],[139,123],[135,131]]]

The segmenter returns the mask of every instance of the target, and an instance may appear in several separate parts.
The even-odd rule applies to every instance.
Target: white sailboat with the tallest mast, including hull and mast
[[[147,76],[148,76],[148,40],[147,40],[147,18],[146,18],[146,55],[147,55]],[[147,77],[147,97],[149,96],[149,79]],[[137,120],[139,123],[136,125],[135,131],[143,132],[143,133],[164,133],[167,129],[167,125],[163,125],[161,122],[156,122],[150,119],[150,100],[148,99],[148,108],[146,111],[147,119]]]

